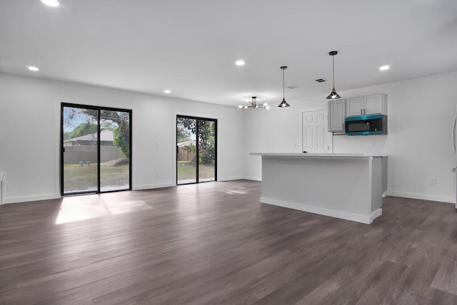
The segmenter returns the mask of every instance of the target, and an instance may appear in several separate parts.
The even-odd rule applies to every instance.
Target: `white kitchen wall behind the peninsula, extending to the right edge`
[[[333,152],[387,153],[389,195],[454,202],[456,177],[451,168],[456,166],[456,161],[451,148],[451,128],[456,115],[456,83],[457,72],[453,72],[338,91],[343,98],[386,93],[388,135],[335,135]],[[248,153],[299,153],[301,110],[326,107],[327,102],[325,95],[319,95],[288,100],[288,103],[291,107],[273,107],[266,114],[246,113],[247,177],[261,180],[260,157]],[[263,133],[254,132],[254,128]],[[431,177],[436,178],[436,185],[430,185]]]

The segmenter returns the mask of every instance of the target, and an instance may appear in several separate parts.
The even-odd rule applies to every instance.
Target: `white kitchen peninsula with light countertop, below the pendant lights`
[[[251,153],[262,157],[261,202],[370,224],[382,214],[387,155]]]

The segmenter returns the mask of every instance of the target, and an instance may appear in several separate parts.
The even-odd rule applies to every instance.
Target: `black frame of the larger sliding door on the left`
[[[97,190],[96,191],[84,191],[84,192],[67,192],[64,193],[64,108],[71,107],[71,108],[82,108],[82,109],[91,109],[97,110],[99,115],[97,118]],[[101,191],[100,190],[100,112],[102,110],[108,111],[119,111],[129,113],[129,150],[130,150],[130,160],[129,160],[129,188],[124,190],[109,190],[109,191]],[[81,105],[81,104],[73,104],[73,103],[61,103],[61,116],[60,116],[60,190],[61,196],[69,196],[69,195],[83,195],[83,194],[100,194],[105,192],[122,192],[125,190],[131,190],[131,165],[132,165],[132,155],[131,155],[131,109],[121,109],[121,108],[110,108],[110,107],[101,107],[101,106],[94,106],[94,105]]]

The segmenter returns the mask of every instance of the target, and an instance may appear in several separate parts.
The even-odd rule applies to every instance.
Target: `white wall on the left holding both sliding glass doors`
[[[175,185],[177,114],[218,119],[218,180],[243,177],[238,108],[0,73],[0,170],[8,172],[6,203],[60,197],[61,102],[132,110],[134,190]]]

